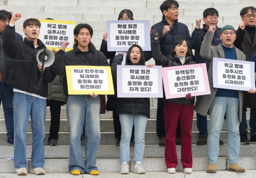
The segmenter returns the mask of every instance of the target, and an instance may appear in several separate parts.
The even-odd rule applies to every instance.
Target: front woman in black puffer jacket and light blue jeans
[[[113,59],[111,65],[114,87],[116,88],[116,68],[121,65],[124,53],[119,53]],[[145,65],[143,51],[139,45],[132,45],[126,55],[125,65]],[[149,64],[147,67],[153,65]],[[121,123],[121,142],[120,142],[120,158],[122,162],[121,174],[128,174],[128,164],[130,161],[130,138],[132,135],[132,125],[134,125],[135,150],[134,173],[145,174],[142,166],[142,159],[145,148],[145,130],[148,117],[150,117],[150,101],[149,98],[118,98],[116,114],[119,114]]]

